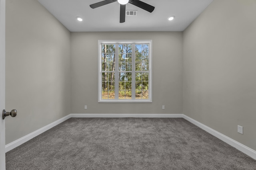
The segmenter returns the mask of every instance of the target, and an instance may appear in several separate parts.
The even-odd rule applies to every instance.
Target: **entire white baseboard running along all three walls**
[[[218,139],[228,143],[232,147],[240,150],[241,152],[247,154],[248,156],[254,158],[256,160],[256,151],[253,149],[250,149],[249,147],[246,147],[245,145],[235,141],[234,139],[231,139],[230,137],[227,137],[226,135],[223,135],[222,133],[219,133],[218,131],[215,131],[214,129],[184,115],[184,114],[70,114],[67,115],[61,119],[58,119],[57,121],[54,121],[53,123],[50,123],[49,125],[46,125],[45,127],[42,127],[41,129],[38,129],[37,131],[34,131],[12,143],[9,143],[5,146],[5,152],[8,152],[23,143],[29,141],[30,139],[40,135],[41,133],[44,133],[45,131],[51,129],[52,127],[66,121],[67,119],[71,117],[111,117],[111,118],[118,118],[118,117],[140,117],[140,118],[184,118],[187,121],[190,121],[194,125],[200,127],[201,129],[207,131],[208,133],[214,135]]]

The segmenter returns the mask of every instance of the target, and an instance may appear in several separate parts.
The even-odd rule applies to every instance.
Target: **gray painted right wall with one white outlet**
[[[183,113],[254,150],[255,9],[255,0],[214,0],[183,34]]]

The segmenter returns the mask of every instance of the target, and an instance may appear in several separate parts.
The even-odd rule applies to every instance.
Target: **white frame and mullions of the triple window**
[[[118,54],[118,44],[138,44],[138,43],[147,43],[149,45],[149,65],[148,65],[148,99],[102,99],[102,61],[101,61],[101,45],[102,44],[116,44],[116,54]],[[132,49],[135,49],[135,45]],[[133,50],[133,57],[135,57],[135,51]],[[118,55],[116,55],[118,56]],[[118,61],[118,58],[117,60]],[[135,58],[132,59],[132,72],[135,72]],[[116,62],[118,65],[118,62]],[[116,67],[117,68],[117,67]],[[118,72],[118,69],[115,69]],[[133,74],[134,75],[134,74]],[[115,79],[118,80],[118,79]],[[132,86],[134,88],[134,92],[132,92],[132,96],[135,96],[135,75],[132,76]],[[117,90],[118,94],[118,83],[115,83],[115,90]],[[116,96],[116,95],[115,95]],[[118,98],[118,96],[116,96]],[[139,103],[139,102],[152,102],[152,40],[98,40],[98,102],[106,102],[106,103]]]

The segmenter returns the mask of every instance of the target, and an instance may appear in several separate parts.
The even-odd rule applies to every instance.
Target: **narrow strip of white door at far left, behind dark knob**
[[[5,0],[0,0],[0,113],[5,109]],[[5,120],[0,116],[0,170],[5,170]]]

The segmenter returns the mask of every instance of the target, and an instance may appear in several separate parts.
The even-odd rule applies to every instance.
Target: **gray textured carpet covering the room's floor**
[[[6,153],[7,170],[256,170],[183,118],[71,118]]]

